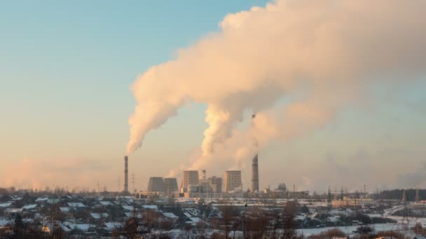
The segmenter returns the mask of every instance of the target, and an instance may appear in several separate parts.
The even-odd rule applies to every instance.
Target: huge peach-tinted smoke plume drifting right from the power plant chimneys
[[[423,0],[279,0],[229,14],[219,32],[137,78],[127,150],[188,101],[208,105],[209,124],[191,168],[218,152],[248,159],[253,137],[263,147],[309,133],[371,82],[425,73],[425,9]],[[277,108],[280,99],[289,103]],[[247,110],[257,113],[254,126],[236,130]]]

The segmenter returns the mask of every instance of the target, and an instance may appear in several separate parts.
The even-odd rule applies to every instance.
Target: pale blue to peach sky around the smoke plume
[[[266,2],[2,4],[0,187],[123,189],[137,76],[219,31],[228,13]],[[261,188],[426,186],[425,90],[424,78],[377,83],[324,127],[270,143],[259,152]],[[147,134],[130,155],[130,189],[146,189],[150,176],[190,164],[207,128],[206,108],[191,103]],[[247,167],[241,169],[248,187]]]

